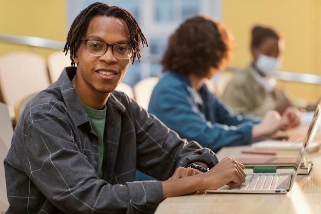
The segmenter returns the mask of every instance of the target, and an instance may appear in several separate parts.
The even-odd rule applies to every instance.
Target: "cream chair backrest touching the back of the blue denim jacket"
[[[135,100],[146,110],[148,109],[150,96],[158,80],[159,77],[157,76],[147,77],[134,85]]]

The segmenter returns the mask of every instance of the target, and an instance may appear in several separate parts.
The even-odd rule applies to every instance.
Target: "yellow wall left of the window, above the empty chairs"
[[[0,0],[0,33],[43,37],[66,41],[65,0]],[[0,42],[0,54],[11,51],[32,51],[47,57],[55,49],[30,47]]]

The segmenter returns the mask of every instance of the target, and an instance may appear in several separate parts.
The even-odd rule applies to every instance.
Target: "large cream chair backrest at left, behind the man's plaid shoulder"
[[[18,51],[0,56],[0,91],[11,118],[17,100],[49,85],[46,61],[41,55]]]

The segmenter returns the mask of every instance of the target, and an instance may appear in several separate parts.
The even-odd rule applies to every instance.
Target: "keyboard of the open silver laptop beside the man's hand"
[[[233,189],[285,189],[289,173],[249,173],[246,181],[239,187]]]

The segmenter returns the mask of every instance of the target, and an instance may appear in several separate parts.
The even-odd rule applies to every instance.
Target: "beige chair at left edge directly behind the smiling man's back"
[[[8,153],[13,135],[12,123],[9,115],[8,106],[0,103],[0,212],[6,211],[9,207],[6,191],[5,169],[3,160]]]

